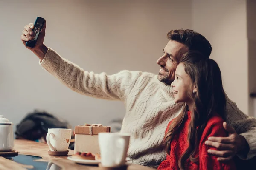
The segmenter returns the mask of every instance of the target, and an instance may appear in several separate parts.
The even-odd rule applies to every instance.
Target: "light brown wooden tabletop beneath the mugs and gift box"
[[[67,156],[49,156],[47,150],[49,147],[47,144],[15,139],[15,150],[19,151],[19,154],[40,156],[42,159],[36,161],[52,162],[62,168],[62,170],[109,170],[110,168],[98,167],[98,166],[86,166],[76,164],[73,161],[67,159]],[[69,155],[73,155],[74,151],[69,150]],[[136,164],[127,164],[126,170],[154,170],[152,168],[144,167]],[[26,168],[33,168],[31,165],[19,164],[15,161],[5,159],[0,156],[0,170],[27,170]]]

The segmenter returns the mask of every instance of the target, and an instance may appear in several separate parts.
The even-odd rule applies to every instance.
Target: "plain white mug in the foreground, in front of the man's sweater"
[[[125,164],[130,134],[99,133],[98,139],[102,167],[121,167]]]

